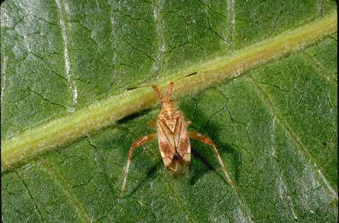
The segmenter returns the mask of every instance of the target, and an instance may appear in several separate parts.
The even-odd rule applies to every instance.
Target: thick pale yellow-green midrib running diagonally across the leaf
[[[336,32],[336,23],[337,15],[334,11],[319,20],[240,49],[232,56],[220,56],[205,63],[195,64],[159,79],[154,84],[163,89],[170,80],[177,80],[174,86],[175,97],[205,89],[225,79],[239,77],[241,73],[254,66],[278,59]],[[185,77],[192,72],[198,73]],[[18,162],[24,162],[33,155],[66,144],[123,117],[151,107],[156,102],[156,95],[151,88],[124,91],[69,116],[55,119],[22,132],[12,139],[4,140],[1,142],[1,171]]]

